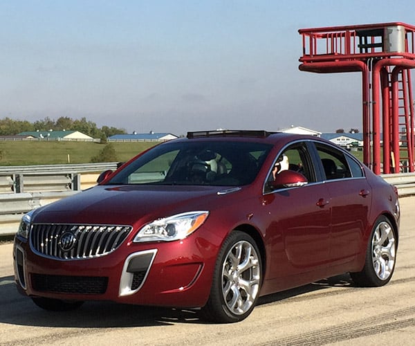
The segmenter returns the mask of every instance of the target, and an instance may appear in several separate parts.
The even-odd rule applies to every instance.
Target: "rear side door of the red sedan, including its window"
[[[337,147],[316,143],[330,195],[331,261],[348,262],[357,255],[367,226],[371,187],[355,158]]]

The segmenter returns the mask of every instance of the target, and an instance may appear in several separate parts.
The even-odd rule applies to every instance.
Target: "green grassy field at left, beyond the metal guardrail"
[[[127,161],[155,142],[113,143],[117,161]],[[91,142],[0,141],[0,166],[90,163],[104,147]]]

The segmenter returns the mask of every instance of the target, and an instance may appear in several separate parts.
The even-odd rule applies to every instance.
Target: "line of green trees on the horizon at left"
[[[73,120],[68,116],[61,116],[57,120],[48,117],[43,120],[29,122],[28,120],[13,120],[10,118],[0,119],[0,135],[10,136],[26,131],[80,131],[93,138],[107,139],[115,134],[127,134],[125,129],[102,126],[98,128],[95,122],[80,118]]]

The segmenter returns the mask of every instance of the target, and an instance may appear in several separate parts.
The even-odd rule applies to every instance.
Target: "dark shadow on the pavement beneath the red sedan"
[[[266,295],[259,298],[258,305],[288,298],[309,299],[309,295],[305,293],[334,286],[352,286],[352,281],[348,275],[331,277],[296,289]],[[73,311],[45,311],[17,292],[12,276],[0,277],[0,307],[0,323],[35,327],[110,328],[149,327],[176,322],[211,323],[203,320],[199,310],[144,307],[115,302],[89,301]]]

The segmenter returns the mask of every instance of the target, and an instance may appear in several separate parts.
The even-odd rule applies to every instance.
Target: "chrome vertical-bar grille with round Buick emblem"
[[[61,260],[82,260],[116,250],[131,226],[34,224],[30,246],[39,255]]]

